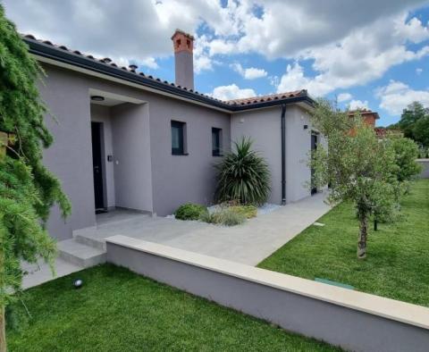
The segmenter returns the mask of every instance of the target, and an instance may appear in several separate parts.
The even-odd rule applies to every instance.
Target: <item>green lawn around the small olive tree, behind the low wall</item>
[[[356,257],[353,207],[341,204],[318,220],[324,227],[308,227],[258,266],[429,306],[429,180],[414,182],[401,205],[404,220],[371,227],[365,260]]]

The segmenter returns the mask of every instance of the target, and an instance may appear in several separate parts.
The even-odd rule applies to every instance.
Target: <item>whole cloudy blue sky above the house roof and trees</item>
[[[0,0],[1,1],[1,0]],[[221,99],[307,88],[397,122],[429,106],[421,0],[3,0],[22,33],[174,81],[171,35],[196,37],[195,85]]]

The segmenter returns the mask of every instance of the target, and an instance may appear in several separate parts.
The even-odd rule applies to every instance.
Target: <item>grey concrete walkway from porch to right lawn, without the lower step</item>
[[[104,222],[97,230],[79,230],[76,236],[80,243],[90,243],[123,235],[256,265],[329,211],[325,196],[319,193],[307,197],[234,227],[140,215],[120,222]]]

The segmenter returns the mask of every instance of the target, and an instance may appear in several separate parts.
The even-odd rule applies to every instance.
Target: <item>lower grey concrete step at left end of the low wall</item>
[[[60,258],[71,264],[88,268],[105,263],[105,250],[87,246],[75,239],[65,239],[57,243]]]

